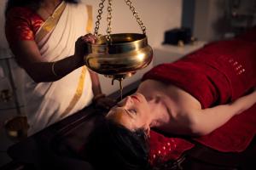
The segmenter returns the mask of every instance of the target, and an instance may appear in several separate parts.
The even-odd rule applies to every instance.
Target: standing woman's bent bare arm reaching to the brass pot
[[[86,43],[94,40],[80,37],[75,44],[75,54],[55,62],[42,59],[34,41],[17,41],[10,44],[12,52],[21,67],[35,82],[53,82],[84,65],[84,54],[88,54]]]

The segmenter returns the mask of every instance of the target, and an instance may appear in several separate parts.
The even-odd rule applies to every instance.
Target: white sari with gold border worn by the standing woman
[[[44,60],[55,61],[74,54],[78,37],[91,29],[91,12],[90,6],[83,3],[62,2],[55,9],[35,38]],[[27,74],[24,78],[29,135],[82,110],[93,98],[90,74],[85,66],[56,82],[36,83]]]

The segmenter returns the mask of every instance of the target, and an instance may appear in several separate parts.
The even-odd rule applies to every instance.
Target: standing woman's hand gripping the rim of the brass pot
[[[93,44],[96,42],[96,36],[92,34],[86,34],[78,38],[75,44],[75,54],[74,56],[79,60],[81,65],[84,65],[84,55],[89,54],[88,44]]]

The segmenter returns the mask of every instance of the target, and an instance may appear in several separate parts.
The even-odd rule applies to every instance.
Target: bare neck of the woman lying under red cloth
[[[169,122],[170,115],[166,110],[166,105],[161,95],[154,96],[153,99],[147,99],[151,111],[150,127],[159,127],[160,125]]]

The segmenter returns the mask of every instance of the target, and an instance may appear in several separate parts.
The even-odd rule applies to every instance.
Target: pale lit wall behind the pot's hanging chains
[[[93,5],[96,20],[100,1],[83,2]],[[107,3],[106,1],[104,12],[107,12]],[[163,41],[164,31],[181,25],[182,0],[134,0],[132,4],[147,27],[148,41],[153,47]],[[106,14],[103,15],[101,23],[101,31],[106,33]],[[113,32],[142,32],[124,0],[113,1]]]

